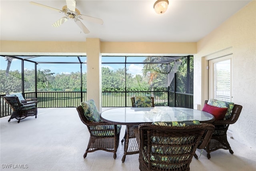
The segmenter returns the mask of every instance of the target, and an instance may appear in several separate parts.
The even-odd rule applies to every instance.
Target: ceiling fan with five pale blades
[[[64,22],[71,19],[71,20],[74,20],[74,22],[80,27],[80,29],[85,34],[88,34],[88,33],[90,33],[90,31],[86,28],[86,26],[84,26],[84,24],[79,19],[88,20],[90,22],[95,22],[98,24],[103,24],[103,20],[100,18],[95,18],[95,17],[80,14],[80,11],[78,9],[76,9],[76,1],[75,0],[66,0],[66,6],[63,6],[62,10],[58,10],[58,9],[52,8],[50,6],[38,4],[36,2],[30,2],[30,4],[42,6],[42,7],[49,8],[51,10],[55,10],[55,11],[63,13],[65,15],[65,17],[60,18],[60,20],[58,20],[54,24],[52,24],[53,27],[59,27]]]

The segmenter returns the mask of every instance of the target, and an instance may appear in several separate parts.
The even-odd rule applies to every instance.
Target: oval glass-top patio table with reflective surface
[[[214,121],[214,116],[210,113],[182,107],[118,107],[103,111],[100,117],[108,123],[120,125],[138,125],[154,121]]]

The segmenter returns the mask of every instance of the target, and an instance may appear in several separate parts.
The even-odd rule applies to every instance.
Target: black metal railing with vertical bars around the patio
[[[130,97],[150,95],[154,97],[155,106],[193,108],[193,94],[174,93],[171,91],[103,91],[102,107],[130,107]],[[10,106],[5,103],[4,95],[0,95],[1,117],[12,113]],[[24,93],[24,98],[38,99],[38,108],[77,107],[81,101],[86,101],[86,91],[40,91]]]

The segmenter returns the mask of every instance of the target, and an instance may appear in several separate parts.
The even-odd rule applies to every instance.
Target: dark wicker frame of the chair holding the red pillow
[[[208,100],[204,102],[208,103]],[[240,113],[242,111],[242,106],[234,104],[232,111],[230,111],[231,115],[223,120],[215,120],[212,124],[215,126],[214,131],[212,133],[212,137],[209,143],[204,148],[207,152],[207,158],[210,159],[210,152],[215,151],[217,149],[228,149],[231,154],[233,154],[233,150],[230,147],[227,139],[227,131],[230,124],[234,124]]]

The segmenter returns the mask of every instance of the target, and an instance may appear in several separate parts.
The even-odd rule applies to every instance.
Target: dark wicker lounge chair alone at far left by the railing
[[[18,119],[18,123],[20,123],[21,119],[24,119],[28,116],[36,116],[37,118],[37,99],[22,99],[20,100],[19,97],[16,95],[9,95],[3,97],[6,103],[10,105],[12,108],[12,114],[8,122],[11,119]]]

